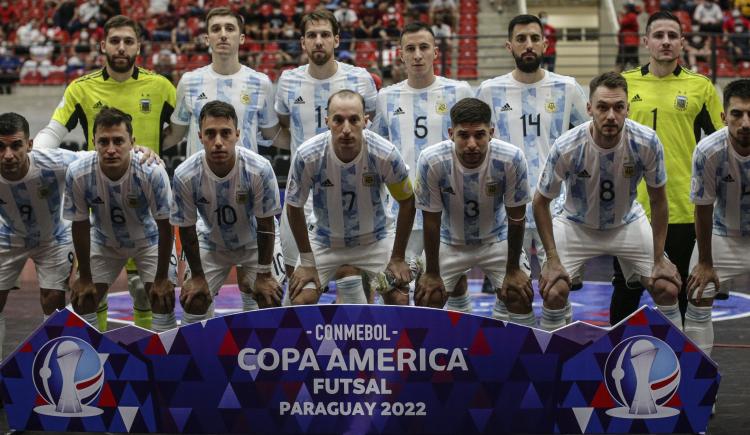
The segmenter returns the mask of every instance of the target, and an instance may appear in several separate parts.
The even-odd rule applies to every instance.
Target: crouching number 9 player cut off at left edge
[[[73,263],[70,228],[61,219],[65,170],[76,154],[32,151],[29,123],[0,115],[0,360],[5,339],[3,308],[28,259],[39,277],[44,318],[65,307]]]

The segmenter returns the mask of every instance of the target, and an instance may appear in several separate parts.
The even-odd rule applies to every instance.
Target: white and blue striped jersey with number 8
[[[644,212],[636,201],[641,179],[651,187],[667,182],[664,148],[654,130],[625,120],[622,139],[604,149],[591,137],[592,121],[560,136],[552,145],[537,187],[556,198],[565,183],[562,215],[598,230],[633,222]]]

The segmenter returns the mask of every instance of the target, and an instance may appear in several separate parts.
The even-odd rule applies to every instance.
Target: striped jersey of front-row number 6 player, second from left
[[[171,189],[161,165],[142,165],[141,153],[130,153],[130,166],[110,180],[91,153],[68,168],[63,217],[89,219],[91,241],[112,248],[143,248],[159,242],[156,221],[169,219]]]

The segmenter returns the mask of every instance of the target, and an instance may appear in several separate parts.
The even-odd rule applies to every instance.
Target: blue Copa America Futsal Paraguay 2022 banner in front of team
[[[104,334],[70,311],[0,367],[16,430],[698,433],[716,365],[643,307],[554,333],[415,307],[238,313]]]

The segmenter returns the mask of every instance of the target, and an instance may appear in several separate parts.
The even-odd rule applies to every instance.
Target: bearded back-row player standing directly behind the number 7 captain
[[[304,141],[328,130],[326,105],[336,91],[349,89],[362,95],[365,113],[370,119],[374,118],[377,98],[375,82],[367,70],[336,61],[334,51],[339,46],[339,24],[330,11],[310,12],[302,18],[301,27],[300,41],[309,62],[281,74],[274,106],[281,125],[288,127],[291,133],[292,161]],[[310,216],[311,210],[308,204],[305,215]],[[291,276],[299,252],[287,213],[281,218],[281,246],[287,276]]]

